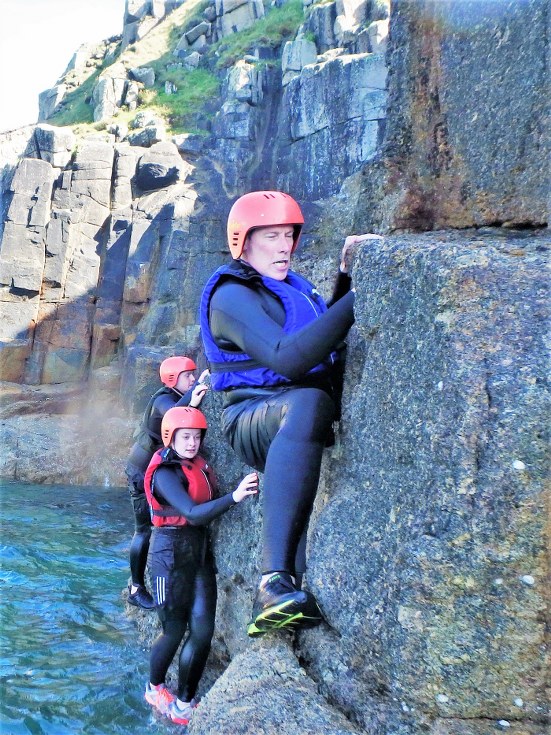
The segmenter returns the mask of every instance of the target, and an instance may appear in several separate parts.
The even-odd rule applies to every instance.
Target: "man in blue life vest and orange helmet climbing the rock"
[[[200,321],[211,387],[224,393],[222,429],[246,464],[264,473],[262,570],[251,636],[311,627],[322,614],[302,589],[306,532],[322,453],[339,417],[341,352],[354,322],[351,235],[326,305],[290,270],[304,218],[279,191],[240,197],[228,217],[233,261],[208,280]]]

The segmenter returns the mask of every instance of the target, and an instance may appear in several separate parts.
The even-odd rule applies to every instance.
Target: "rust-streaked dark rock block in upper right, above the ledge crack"
[[[366,211],[376,199],[383,227],[546,223],[548,44],[545,0],[394,3],[386,199],[366,193]]]

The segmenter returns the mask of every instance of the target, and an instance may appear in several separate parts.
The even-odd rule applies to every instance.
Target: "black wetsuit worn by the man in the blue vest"
[[[305,569],[308,519],[340,390],[338,366],[306,373],[339,348],[353,324],[350,283],[340,274],[327,312],[291,334],[283,330],[279,299],[242,261],[228,268],[210,300],[210,329],[220,348],[242,351],[292,381],[225,391],[224,433],[244,462],[264,472],[265,574]]]

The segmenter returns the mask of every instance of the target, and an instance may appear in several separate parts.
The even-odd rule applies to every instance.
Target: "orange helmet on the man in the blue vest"
[[[289,194],[282,191],[252,191],[234,203],[228,215],[228,245],[232,257],[241,257],[245,238],[255,227],[294,225],[295,251],[304,224],[300,207]]]

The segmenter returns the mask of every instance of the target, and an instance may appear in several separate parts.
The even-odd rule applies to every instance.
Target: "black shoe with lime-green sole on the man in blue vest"
[[[274,572],[258,588],[247,633],[254,638],[281,628],[313,628],[321,621],[315,597],[310,592],[297,590],[286,572]]]

